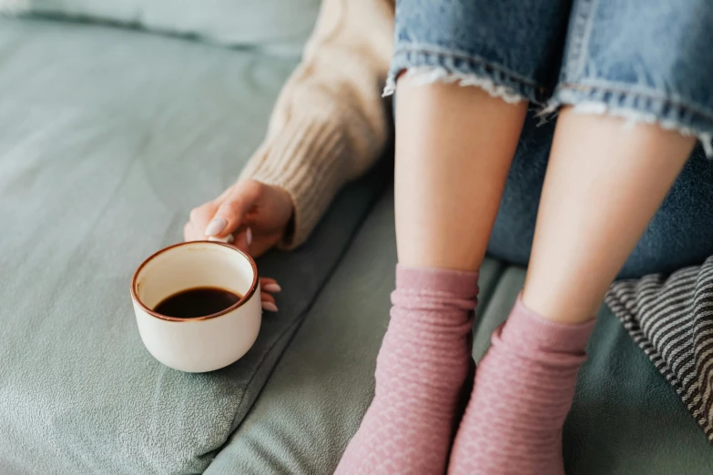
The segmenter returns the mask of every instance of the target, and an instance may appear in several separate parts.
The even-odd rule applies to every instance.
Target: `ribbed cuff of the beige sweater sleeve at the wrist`
[[[280,248],[297,248],[320,221],[348,179],[342,156],[347,140],[340,127],[321,120],[288,124],[269,136],[250,158],[240,179],[281,187],[294,204],[294,226]]]

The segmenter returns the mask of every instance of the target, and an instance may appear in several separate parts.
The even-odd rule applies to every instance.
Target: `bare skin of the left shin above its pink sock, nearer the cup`
[[[399,83],[396,242],[409,267],[476,270],[525,121],[477,87]]]

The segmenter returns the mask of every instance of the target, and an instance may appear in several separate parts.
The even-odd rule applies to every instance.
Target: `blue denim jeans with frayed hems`
[[[538,106],[525,122],[488,251],[526,265],[560,106],[695,135],[619,278],[713,255],[713,4],[709,0],[399,0],[385,93],[414,79],[481,86]]]

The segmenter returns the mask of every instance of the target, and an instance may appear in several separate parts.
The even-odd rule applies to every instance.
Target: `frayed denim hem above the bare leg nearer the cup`
[[[544,104],[544,87],[479,58],[439,51],[433,46],[397,49],[383,96],[392,96],[396,91],[396,79],[404,71],[404,77],[412,77],[416,84],[440,82],[476,86],[510,104],[522,100]]]

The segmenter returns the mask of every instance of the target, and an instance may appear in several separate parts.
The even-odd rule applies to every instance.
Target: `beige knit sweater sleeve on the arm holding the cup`
[[[341,187],[381,155],[392,129],[381,98],[392,32],[392,0],[323,1],[267,136],[240,176],[290,194],[294,226],[282,248],[304,242]]]

